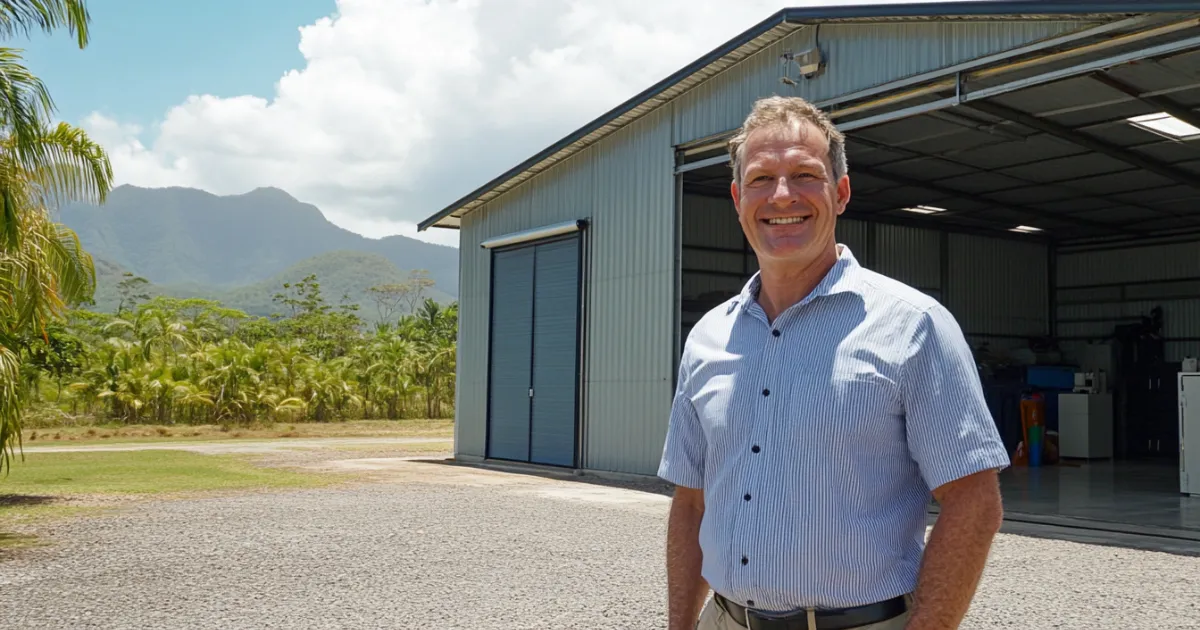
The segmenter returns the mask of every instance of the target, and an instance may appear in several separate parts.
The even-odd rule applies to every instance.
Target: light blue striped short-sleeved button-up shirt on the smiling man
[[[930,488],[1009,464],[959,324],[845,246],[774,325],[757,288],[688,336],[659,468],[704,490],[703,577],[776,612],[911,593]]]

